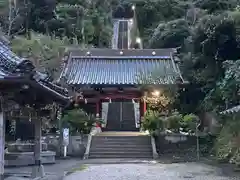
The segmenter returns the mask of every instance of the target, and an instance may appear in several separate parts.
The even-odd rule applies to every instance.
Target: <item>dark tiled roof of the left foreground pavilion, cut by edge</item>
[[[0,40],[0,83],[6,81],[14,83],[22,80],[24,83],[34,85],[46,90],[57,99],[67,100],[67,91],[47,80],[47,77],[36,71],[31,61],[22,59]]]

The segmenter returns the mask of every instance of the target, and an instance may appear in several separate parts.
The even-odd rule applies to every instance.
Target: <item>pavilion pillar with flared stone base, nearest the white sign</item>
[[[42,152],[42,120],[36,118],[34,121],[34,131],[35,131],[35,146],[34,146],[34,160],[35,164],[32,170],[32,178],[43,177],[45,175],[44,168],[41,162],[41,152]]]

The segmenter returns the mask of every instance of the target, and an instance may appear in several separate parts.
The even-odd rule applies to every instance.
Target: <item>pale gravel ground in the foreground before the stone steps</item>
[[[201,163],[88,165],[64,180],[240,180]]]

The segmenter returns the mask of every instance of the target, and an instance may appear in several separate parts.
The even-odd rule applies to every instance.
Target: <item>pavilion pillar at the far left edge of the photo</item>
[[[4,100],[0,97],[0,180],[4,179],[5,117]]]

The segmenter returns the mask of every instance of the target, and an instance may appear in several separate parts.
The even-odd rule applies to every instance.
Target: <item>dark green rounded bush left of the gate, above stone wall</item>
[[[71,133],[89,134],[96,119],[81,109],[68,111],[62,118],[62,125],[70,128]]]

